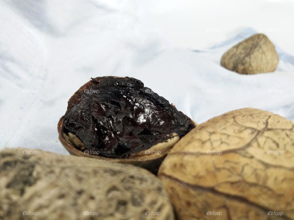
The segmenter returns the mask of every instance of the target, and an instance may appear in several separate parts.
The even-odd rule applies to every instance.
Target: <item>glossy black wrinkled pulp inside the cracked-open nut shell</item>
[[[134,78],[92,79],[92,86],[65,116],[63,132],[74,134],[99,156],[125,158],[187,134],[195,125],[166,99]]]

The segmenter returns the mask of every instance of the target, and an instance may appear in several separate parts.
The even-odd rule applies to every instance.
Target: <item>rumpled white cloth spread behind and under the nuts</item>
[[[1,1],[0,18],[0,149],[68,154],[58,120],[81,85],[104,75],[140,79],[197,123],[243,107],[294,119],[294,57],[279,42],[273,73],[239,75],[220,66],[221,55],[252,29],[190,51],[169,43],[139,1]]]

